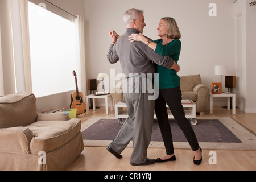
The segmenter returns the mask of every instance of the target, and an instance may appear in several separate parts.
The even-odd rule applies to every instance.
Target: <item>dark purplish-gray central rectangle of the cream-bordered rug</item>
[[[175,120],[169,120],[174,142],[187,142],[183,132]],[[113,140],[121,129],[118,119],[100,119],[82,132],[85,140]],[[218,119],[198,119],[197,125],[192,126],[198,142],[242,143]],[[154,120],[151,141],[163,142],[158,121]]]

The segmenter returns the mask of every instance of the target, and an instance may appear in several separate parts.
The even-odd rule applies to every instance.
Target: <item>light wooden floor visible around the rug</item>
[[[96,111],[90,110],[90,114],[80,115],[82,122],[93,116],[114,117],[114,111],[109,115],[105,114],[105,107]],[[247,129],[256,133],[256,113],[243,113],[236,109],[236,114],[232,110],[228,111],[221,107],[213,107],[213,114],[209,111],[197,117],[230,117],[240,122]],[[255,141],[256,144],[256,141]],[[67,171],[255,171],[256,170],[256,151],[238,150],[214,150],[217,154],[217,164],[209,164],[210,150],[203,150],[203,162],[200,166],[193,164],[192,150],[175,150],[177,160],[175,162],[155,163],[150,166],[131,166],[130,155],[133,148],[126,148],[123,158],[117,159],[111,155],[105,147],[85,147],[79,158],[67,168]],[[156,159],[166,155],[161,148],[149,148],[148,158]]]

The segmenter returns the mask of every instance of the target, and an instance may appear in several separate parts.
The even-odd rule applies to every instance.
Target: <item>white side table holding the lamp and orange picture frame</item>
[[[213,97],[228,97],[228,110],[230,110],[230,97],[232,97],[232,114],[236,114],[236,94],[234,93],[210,93],[210,114],[213,114]]]

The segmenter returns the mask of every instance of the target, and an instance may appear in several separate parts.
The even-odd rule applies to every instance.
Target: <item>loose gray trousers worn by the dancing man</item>
[[[133,139],[131,163],[134,164],[141,164],[147,160],[147,148],[151,141],[155,106],[155,100],[148,99],[148,96],[152,94],[147,91],[146,93],[142,92],[142,86],[145,85],[144,77],[138,77],[139,81],[132,81],[131,79],[134,79],[134,77],[123,80],[123,88],[127,85],[129,91],[125,93],[129,117],[123,123],[115,140],[110,143],[110,147],[118,154],[121,154]]]

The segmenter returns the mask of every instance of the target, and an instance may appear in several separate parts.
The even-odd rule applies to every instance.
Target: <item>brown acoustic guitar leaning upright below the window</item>
[[[84,98],[82,96],[82,93],[79,92],[78,86],[77,86],[77,78],[76,78],[76,71],[73,71],[73,76],[75,76],[76,80],[76,92],[73,92],[71,95],[71,109],[77,109],[77,115],[85,113],[86,115],[86,104],[84,102]]]

